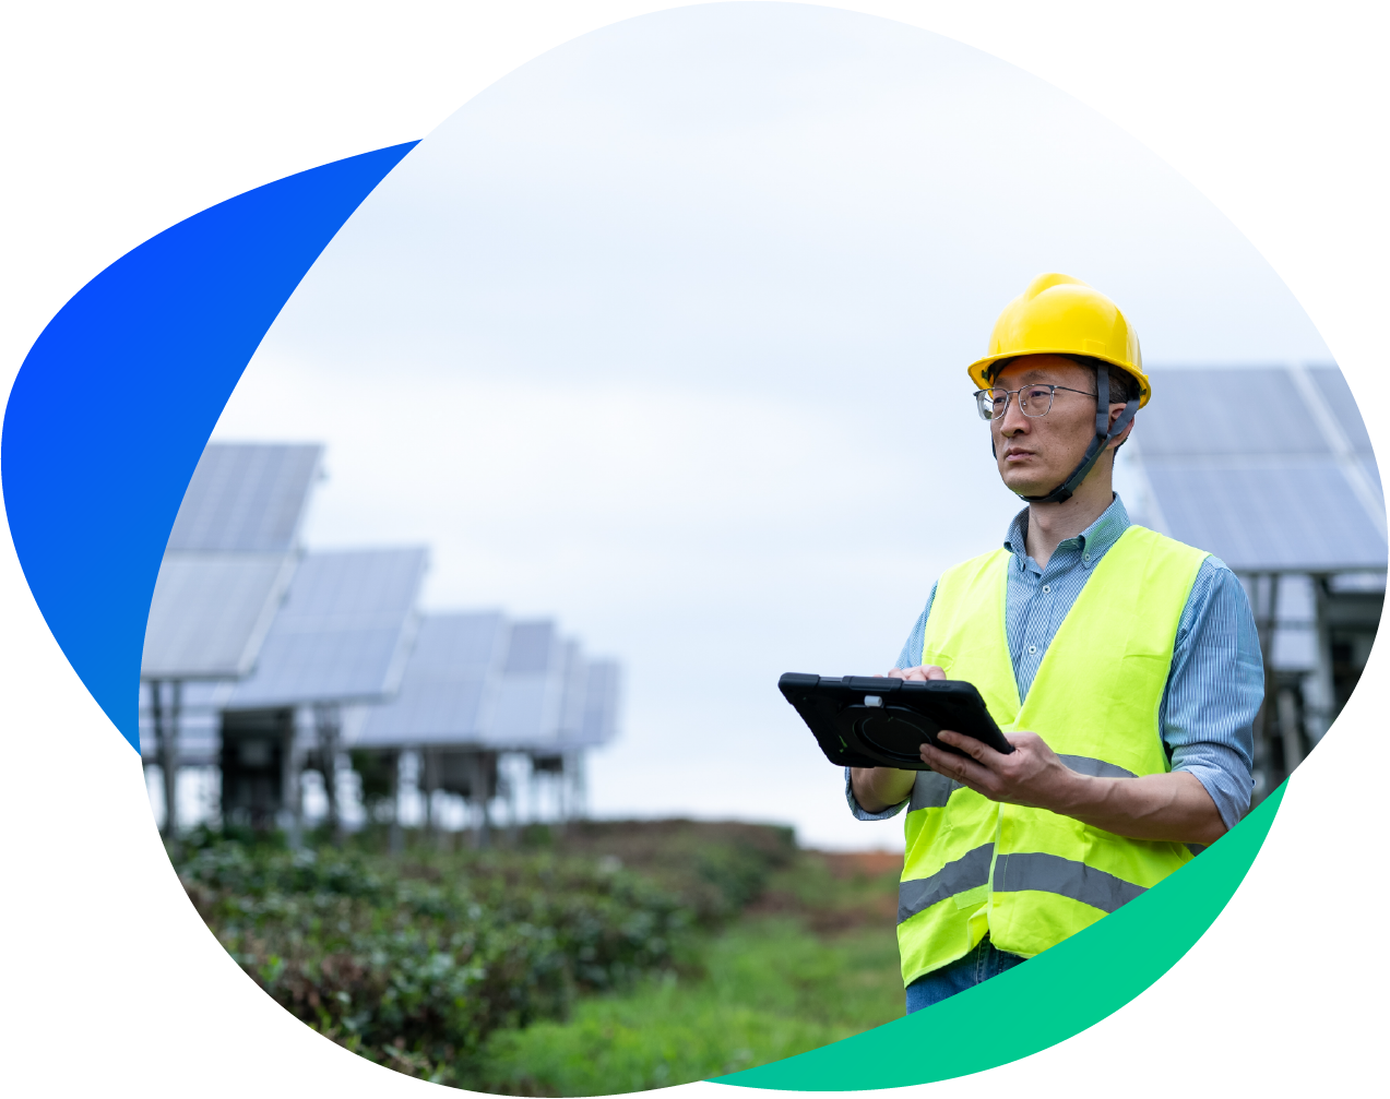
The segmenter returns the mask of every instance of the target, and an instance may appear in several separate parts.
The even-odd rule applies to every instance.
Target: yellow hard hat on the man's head
[[[1138,381],[1138,406],[1150,385],[1138,353],[1138,335],[1111,299],[1070,275],[1038,275],[1004,307],[990,333],[990,350],[970,364],[970,381],[990,386],[990,367],[1020,354],[1066,354],[1099,358]]]

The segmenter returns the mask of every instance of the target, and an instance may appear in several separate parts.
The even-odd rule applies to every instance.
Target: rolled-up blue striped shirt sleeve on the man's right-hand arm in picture
[[[1250,809],[1264,700],[1265,663],[1245,589],[1208,557],[1177,625],[1159,727],[1173,770],[1195,775],[1227,829]]]

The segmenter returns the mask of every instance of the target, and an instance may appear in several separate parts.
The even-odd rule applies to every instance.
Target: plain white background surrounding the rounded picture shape
[[[653,4],[49,6],[0,40],[6,386],[100,267],[246,188],[421,136],[575,33]],[[1129,129],[1201,188],[1308,310],[1380,454],[1384,26],[1371,4],[862,4],[990,50]],[[15,779],[4,1073],[26,1091],[414,1088],[293,1023],[183,899],[133,753],[67,667],[8,546],[0,720]],[[1118,1016],[995,1082],[1137,1093],[1354,1086],[1387,977],[1384,645],[1300,770],[1211,934]],[[67,792],[39,781],[58,770]],[[21,785],[22,784],[22,785]],[[74,871],[74,867],[78,867]],[[254,1050],[254,1056],[247,1056]],[[701,1085],[696,1085],[701,1086]],[[941,1085],[949,1092],[976,1081]]]

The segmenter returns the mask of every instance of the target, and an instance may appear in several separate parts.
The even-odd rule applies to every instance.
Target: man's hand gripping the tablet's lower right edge
[[[1081,778],[1036,732],[1005,734],[1013,745],[1008,756],[973,736],[949,729],[942,729],[938,736],[967,754],[954,756],[922,745],[922,761],[991,802],[1065,811],[1072,788]]]

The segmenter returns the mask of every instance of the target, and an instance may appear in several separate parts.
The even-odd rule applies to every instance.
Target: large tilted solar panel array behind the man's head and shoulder
[[[1133,436],[1154,525],[1245,572],[1384,570],[1380,472],[1336,367],[1155,368]]]

